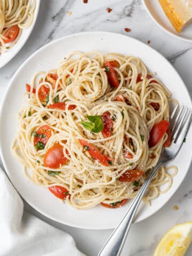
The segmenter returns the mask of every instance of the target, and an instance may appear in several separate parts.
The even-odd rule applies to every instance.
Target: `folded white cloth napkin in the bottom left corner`
[[[0,255],[83,256],[74,239],[34,215],[23,211],[23,202],[0,169]]]

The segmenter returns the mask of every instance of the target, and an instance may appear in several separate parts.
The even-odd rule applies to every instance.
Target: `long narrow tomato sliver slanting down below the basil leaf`
[[[90,156],[99,161],[99,163],[101,163],[102,165],[109,166],[106,157],[103,156],[98,149],[94,148],[90,143],[86,142],[85,140],[79,140],[79,142],[81,143],[83,148],[86,148]]]

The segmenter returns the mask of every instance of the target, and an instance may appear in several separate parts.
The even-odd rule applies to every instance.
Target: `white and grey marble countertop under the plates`
[[[110,13],[106,11],[107,7],[112,9]],[[126,33],[124,28],[131,28],[131,31]],[[150,19],[141,0],[89,0],[87,4],[84,4],[83,0],[44,0],[41,1],[38,19],[27,43],[6,66],[0,69],[0,102],[15,71],[39,47],[65,35],[94,30],[125,34],[144,43],[150,40],[150,46],[172,63],[189,92],[192,92],[192,43],[165,34]],[[186,179],[170,201],[152,217],[132,226],[122,256],[152,255],[159,239],[169,228],[181,222],[191,221],[191,167]],[[174,210],[174,205],[178,205],[177,211]],[[51,225],[67,231],[74,237],[78,249],[89,256],[97,255],[112,231],[71,228],[50,221],[27,204],[26,209]],[[192,247],[187,255],[192,255]]]

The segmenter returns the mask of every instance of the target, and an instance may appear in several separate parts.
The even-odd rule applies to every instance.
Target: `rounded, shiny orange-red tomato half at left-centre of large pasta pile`
[[[43,160],[44,165],[52,169],[57,169],[66,162],[67,158],[63,154],[63,147],[59,143],[46,151]]]

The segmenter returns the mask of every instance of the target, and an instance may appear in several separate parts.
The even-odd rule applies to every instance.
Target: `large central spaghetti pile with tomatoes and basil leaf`
[[[36,73],[12,147],[26,177],[50,191],[65,188],[76,209],[133,198],[169,139],[165,131],[148,146],[154,125],[169,121],[171,99],[153,75],[138,58],[99,52],[73,52]],[[177,167],[169,169],[159,169],[146,202],[169,190]]]

